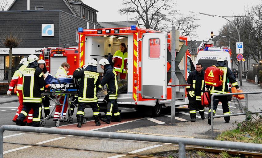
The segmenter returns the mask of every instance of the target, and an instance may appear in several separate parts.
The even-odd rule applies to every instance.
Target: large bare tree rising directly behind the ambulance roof
[[[118,10],[120,14],[133,13],[133,20],[140,20],[139,25],[147,29],[163,30],[166,28],[167,13],[174,6],[170,0],[123,0],[123,9]]]

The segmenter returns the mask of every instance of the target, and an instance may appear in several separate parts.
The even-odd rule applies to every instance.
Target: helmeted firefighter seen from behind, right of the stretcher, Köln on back
[[[93,110],[96,126],[101,123],[99,115],[99,106],[96,92],[99,89],[100,79],[97,73],[97,61],[92,59],[88,62],[88,66],[84,69],[78,68],[73,73],[73,78],[81,79],[78,91],[78,109],[76,113],[77,127],[81,127],[84,119],[84,109],[87,105]]]

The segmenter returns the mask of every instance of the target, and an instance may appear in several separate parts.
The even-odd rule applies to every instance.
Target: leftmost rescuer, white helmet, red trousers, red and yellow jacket
[[[14,86],[16,85],[16,94],[18,96],[19,106],[16,110],[16,114],[14,115],[13,122],[15,123],[15,120],[17,119],[18,115],[22,111],[23,108],[23,70],[27,67],[28,62],[27,58],[21,59],[16,71],[14,72],[14,75],[12,77],[12,80],[9,84],[9,90],[7,91],[7,95],[11,95],[12,90],[14,89]],[[27,123],[28,126],[32,125],[33,120],[33,110],[31,109],[28,113],[28,116],[23,121],[22,125],[25,125]]]

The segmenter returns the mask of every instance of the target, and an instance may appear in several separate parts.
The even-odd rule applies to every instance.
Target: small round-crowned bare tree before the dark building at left
[[[0,24],[0,46],[9,48],[9,72],[8,80],[12,79],[12,49],[18,47],[22,43],[24,36],[24,30],[21,26],[18,26],[12,22],[6,22]]]

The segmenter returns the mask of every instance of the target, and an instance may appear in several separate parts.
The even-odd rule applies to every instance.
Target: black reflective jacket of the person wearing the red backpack
[[[211,87],[210,89],[210,94],[223,94],[227,93],[227,79],[231,83],[232,86],[239,88],[237,81],[235,80],[235,77],[230,70],[230,68],[223,66],[223,67],[218,67],[220,70],[224,71],[224,75],[222,76],[223,78],[223,84],[220,87]]]

